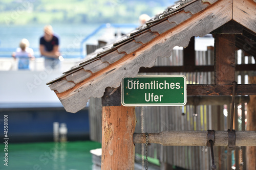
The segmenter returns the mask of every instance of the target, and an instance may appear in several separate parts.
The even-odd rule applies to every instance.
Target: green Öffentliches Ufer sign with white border
[[[186,77],[183,75],[122,80],[123,106],[184,106],[186,102]]]

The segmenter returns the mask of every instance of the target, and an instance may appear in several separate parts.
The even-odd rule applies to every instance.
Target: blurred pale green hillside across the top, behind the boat
[[[162,12],[173,1],[1,0],[0,23],[137,23],[138,16]]]

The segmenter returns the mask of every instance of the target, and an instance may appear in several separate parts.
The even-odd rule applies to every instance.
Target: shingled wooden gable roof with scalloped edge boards
[[[237,37],[241,42],[238,44],[251,45],[250,40],[256,37],[254,1],[179,2],[130,35],[96,50],[86,61],[47,84],[65,109],[75,113],[86,107],[90,97],[101,98],[106,87],[117,88],[122,78],[136,77],[140,67],[152,67],[157,57],[169,57],[174,46],[186,47],[191,37],[202,37],[229,21],[236,21],[248,33]],[[254,48],[253,44],[251,54],[255,53]]]

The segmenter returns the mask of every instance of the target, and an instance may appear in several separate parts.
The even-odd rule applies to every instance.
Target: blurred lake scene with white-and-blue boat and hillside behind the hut
[[[111,41],[140,26],[139,16],[164,11],[174,1],[2,0],[0,2],[0,157],[4,117],[8,117],[8,166],[0,169],[92,169],[88,106],[76,114],[63,109],[46,85],[86,58],[87,45]],[[45,69],[39,38],[51,25],[63,59],[57,70]],[[35,59],[18,69],[12,53],[28,39]]]

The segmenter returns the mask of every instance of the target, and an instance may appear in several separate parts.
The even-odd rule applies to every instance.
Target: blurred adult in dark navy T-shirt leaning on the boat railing
[[[53,34],[52,26],[44,27],[44,36],[40,38],[39,50],[45,57],[45,68],[60,68],[59,39]]]

